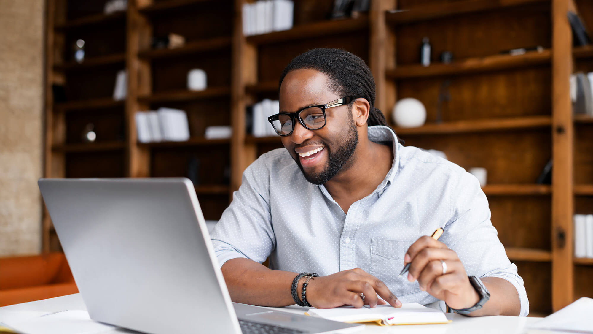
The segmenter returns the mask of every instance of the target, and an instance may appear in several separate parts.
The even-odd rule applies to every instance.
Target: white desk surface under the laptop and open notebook
[[[270,307],[274,309],[273,307]],[[307,308],[298,306],[278,308],[282,311],[302,314]],[[63,297],[50,298],[46,300],[32,301],[30,303],[9,305],[0,307],[0,322],[2,322],[5,310],[9,311],[60,311],[60,310],[87,310],[80,294],[66,295]],[[447,318],[453,320],[449,324],[428,324],[410,326],[375,326],[367,325],[365,330],[358,333],[504,333],[523,334],[527,324],[531,324],[540,318],[535,317],[464,317],[460,314],[447,313]],[[131,333],[129,330],[111,330],[105,333]]]

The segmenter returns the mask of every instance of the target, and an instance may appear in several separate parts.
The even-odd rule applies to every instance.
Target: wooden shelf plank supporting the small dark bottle
[[[522,55],[492,55],[480,58],[468,58],[451,64],[422,64],[401,65],[392,70],[385,71],[385,76],[390,79],[409,79],[423,77],[438,77],[441,75],[461,75],[469,73],[483,73],[489,71],[506,70],[509,68],[520,68],[538,64],[549,64],[551,52],[531,51]]]

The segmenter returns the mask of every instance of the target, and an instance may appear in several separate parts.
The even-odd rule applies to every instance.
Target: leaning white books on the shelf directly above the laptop
[[[135,119],[140,143],[189,140],[189,124],[183,110],[159,108],[157,111],[139,111]]]

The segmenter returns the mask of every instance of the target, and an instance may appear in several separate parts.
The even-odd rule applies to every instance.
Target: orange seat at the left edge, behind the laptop
[[[0,306],[76,292],[63,253],[0,258]]]

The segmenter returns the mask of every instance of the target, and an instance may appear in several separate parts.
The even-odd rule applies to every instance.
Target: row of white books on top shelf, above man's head
[[[259,0],[243,4],[245,36],[292,28],[294,3],[290,0]]]

